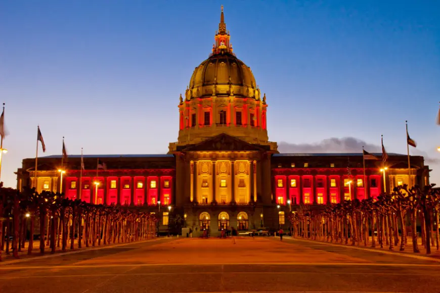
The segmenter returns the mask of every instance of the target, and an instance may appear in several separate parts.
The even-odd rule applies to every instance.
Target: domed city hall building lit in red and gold
[[[158,215],[167,231],[181,215],[195,235],[206,229],[288,228],[288,213],[343,200],[377,197],[400,184],[429,184],[423,157],[388,154],[280,154],[269,141],[268,101],[250,68],[233,53],[222,8],[210,57],[198,65],[179,101],[179,136],[166,155],[85,155],[24,159],[17,188],[62,190],[87,203],[127,206]],[[97,161],[107,168],[97,172]],[[347,168],[349,167],[349,168]],[[348,172],[349,171],[349,172]],[[385,181],[383,180],[385,178]],[[96,184],[98,183],[98,184]]]

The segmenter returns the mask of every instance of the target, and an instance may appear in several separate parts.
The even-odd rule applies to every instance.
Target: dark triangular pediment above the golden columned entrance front
[[[184,152],[191,151],[266,151],[257,144],[248,143],[226,133],[207,138],[197,144],[188,145]]]

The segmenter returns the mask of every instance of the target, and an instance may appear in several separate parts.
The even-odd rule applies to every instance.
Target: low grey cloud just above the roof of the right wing
[[[317,143],[278,143],[280,153],[361,153],[362,146],[367,152],[380,153],[381,146],[355,137],[331,137]]]

